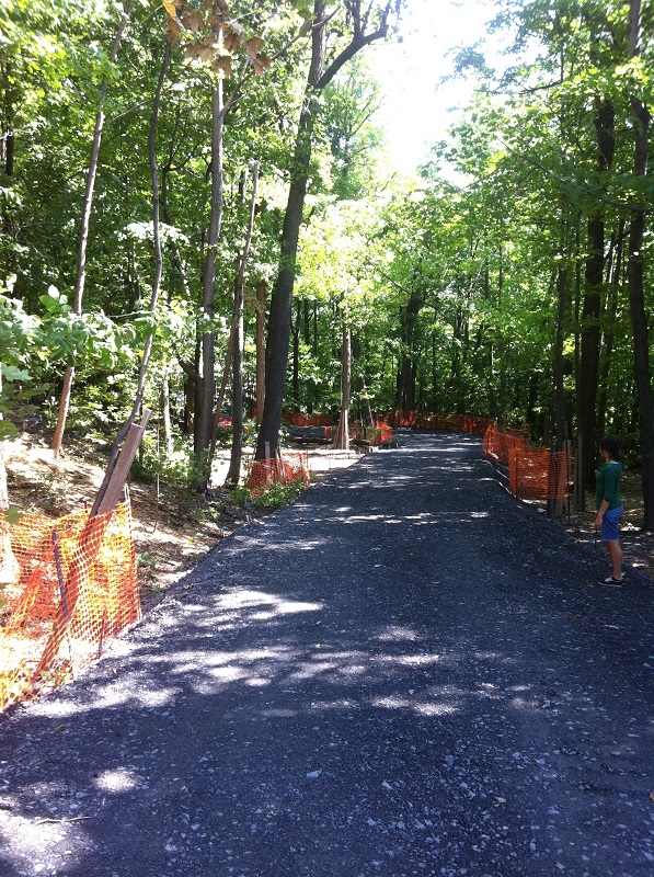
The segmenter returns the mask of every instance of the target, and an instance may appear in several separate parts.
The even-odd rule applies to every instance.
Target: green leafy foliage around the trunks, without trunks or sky
[[[378,88],[363,62],[343,67],[324,90],[299,244],[288,408],[337,410],[346,326],[357,417],[368,407],[394,409],[404,375],[411,386],[402,398],[416,408],[531,421],[542,433],[553,405],[554,281],[562,269],[567,281],[560,327],[563,384],[573,418],[588,221],[594,216],[605,221],[608,266],[616,255],[611,240],[628,234],[630,208],[647,206],[653,197],[651,175],[635,179],[632,172],[632,98],[646,105],[653,101],[653,11],[644,5],[642,54],[630,59],[628,10],[617,0],[503,0],[500,5],[495,26],[509,25],[516,52],[528,46],[529,54],[516,55],[498,81],[477,47],[461,47],[458,75],[471,76],[478,91],[446,140],[435,145],[417,183],[380,179],[380,133],[370,116]],[[348,4],[329,7],[334,13],[330,48],[337,49],[346,38],[340,16]],[[195,41],[195,32],[187,29],[172,48],[157,130],[163,293],[150,316],[154,272],[147,144],[165,10],[154,4],[149,7],[153,14],[134,18],[112,66],[117,7],[9,0],[0,9],[0,127],[3,135],[12,133],[15,146],[13,167],[5,153],[0,167],[0,412],[24,413],[32,405],[54,410],[64,367],[74,364],[72,424],[115,432],[134,400],[146,338],[154,332],[145,403],[157,410],[165,384],[173,420],[181,422],[199,332],[215,334],[217,368],[225,362],[237,255],[248,220],[246,178],[257,160],[260,204],[244,314],[246,402],[253,401],[253,291],[265,283],[269,292],[275,281],[313,4],[234,0],[229,8],[234,21],[246,22],[248,37],[265,31],[269,57],[300,31],[303,36],[265,77],[249,82],[226,121],[210,318],[202,295],[216,73],[184,54],[183,44]],[[371,14],[378,8],[372,4]],[[209,54],[215,60],[213,46]],[[229,94],[238,73],[220,69]],[[79,223],[103,80],[106,124],[88,247],[87,312],[76,315],[71,291]],[[595,124],[598,106],[607,103],[616,116],[610,169],[598,164]],[[646,289],[654,280],[651,258],[647,237]],[[608,281],[600,316],[607,420],[633,436],[638,407],[624,264],[612,286]],[[653,307],[647,292],[650,317]],[[7,421],[0,429],[0,438],[15,433]],[[246,443],[253,435],[254,424],[248,423]],[[230,432],[221,430],[219,441],[228,443]],[[173,443],[172,457],[163,459],[148,435],[133,476],[195,480],[190,440],[173,428]]]

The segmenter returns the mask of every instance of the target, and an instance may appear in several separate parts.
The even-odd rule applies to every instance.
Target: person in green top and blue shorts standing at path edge
[[[604,457],[604,466],[595,479],[595,528],[601,531],[601,540],[606,546],[611,561],[611,574],[600,579],[600,584],[617,588],[622,584],[622,548],[620,547],[620,532],[618,522],[622,514],[622,500],[620,499],[620,442],[617,435],[606,435],[599,449]]]

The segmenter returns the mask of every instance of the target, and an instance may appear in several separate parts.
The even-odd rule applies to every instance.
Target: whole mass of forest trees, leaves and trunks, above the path
[[[410,5],[5,0],[0,437],[147,406],[206,486],[217,413],[232,481],[289,412],[582,435],[586,481],[616,432],[654,528],[652,2],[497,0],[406,179],[368,56]]]

